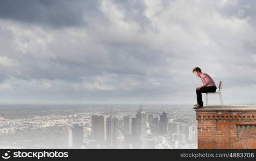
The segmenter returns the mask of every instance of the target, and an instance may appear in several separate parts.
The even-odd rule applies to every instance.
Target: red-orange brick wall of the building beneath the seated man
[[[198,149],[256,149],[256,110],[196,109],[196,119]]]

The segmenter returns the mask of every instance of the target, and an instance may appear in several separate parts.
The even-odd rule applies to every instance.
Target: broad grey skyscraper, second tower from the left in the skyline
[[[103,144],[106,138],[106,121],[103,115],[91,115],[91,135],[99,144]]]

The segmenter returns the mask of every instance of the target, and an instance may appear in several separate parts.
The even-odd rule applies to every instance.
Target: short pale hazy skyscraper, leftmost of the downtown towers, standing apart
[[[68,147],[81,148],[83,145],[83,126],[72,125],[68,127]]]

